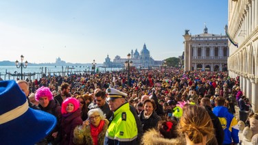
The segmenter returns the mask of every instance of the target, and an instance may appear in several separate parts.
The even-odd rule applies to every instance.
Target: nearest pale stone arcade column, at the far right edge
[[[255,79],[250,79],[250,82],[252,83],[252,98],[250,100],[250,103],[252,103],[252,107],[254,111],[258,110],[258,98],[257,98],[257,94],[258,94],[258,84],[255,83]]]

